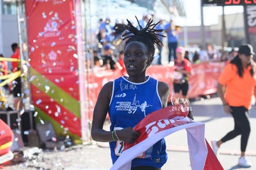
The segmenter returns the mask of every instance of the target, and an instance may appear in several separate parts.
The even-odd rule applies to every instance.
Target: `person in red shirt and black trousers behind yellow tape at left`
[[[20,48],[17,43],[12,43],[12,55],[11,59],[20,59]],[[20,61],[13,61],[12,62],[12,72],[17,72],[20,70]],[[21,77],[17,77],[15,80],[12,81],[12,95],[14,96],[14,108],[15,109],[22,109],[22,80]]]

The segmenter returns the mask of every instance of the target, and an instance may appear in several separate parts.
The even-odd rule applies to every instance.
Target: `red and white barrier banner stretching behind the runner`
[[[216,86],[218,77],[225,66],[226,62],[202,62],[200,64],[193,64],[194,74],[189,77],[189,98],[197,98],[200,95],[209,95],[216,93]],[[170,96],[169,102],[171,103],[171,95],[173,91],[173,71],[172,66],[153,65],[148,67],[147,75],[158,79],[159,81],[166,82],[169,85]],[[92,111],[96,103],[98,93],[100,93],[103,85],[111,80],[117,79],[122,75],[121,70],[103,70],[88,74],[85,87],[92,91],[87,95],[87,103],[89,105],[87,113],[88,120],[92,121]]]

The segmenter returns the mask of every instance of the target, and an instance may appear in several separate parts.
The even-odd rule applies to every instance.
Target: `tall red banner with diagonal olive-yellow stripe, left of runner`
[[[77,38],[77,6],[80,1],[25,1],[37,121],[51,121],[56,135],[74,140],[81,138],[78,45],[82,43]]]

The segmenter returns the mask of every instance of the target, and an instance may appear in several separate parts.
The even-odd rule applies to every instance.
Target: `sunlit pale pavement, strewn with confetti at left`
[[[253,101],[254,102],[254,101]],[[218,140],[234,127],[233,117],[224,113],[220,98],[193,100],[190,105],[194,112],[194,120],[205,124],[205,138]],[[106,122],[105,127],[108,127]],[[219,149],[218,159],[226,169],[256,169],[256,109],[250,110],[251,134],[247,145],[247,158],[252,163],[251,168],[237,166],[240,154],[240,136],[223,143]],[[179,130],[166,139],[168,161],[162,170],[190,168],[189,151],[187,147],[186,130]],[[41,164],[41,165],[40,165]],[[65,150],[44,151],[41,161],[30,161],[4,169],[70,169],[70,170],[106,170],[111,168],[111,158],[108,143],[93,142],[86,145],[75,145]],[[0,168],[1,169],[1,168]],[[218,170],[218,169],[216,169]]]

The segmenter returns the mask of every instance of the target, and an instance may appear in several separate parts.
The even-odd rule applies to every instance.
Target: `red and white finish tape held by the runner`
[[[176,108],[179,108],[177,111]],[[205,125],[194,122],[188,117],[186,108],[182,105],[168,106],[151,114],[148,114],[134,127],[140,131],[140,137],[135,145],[129,145],[113,164],[111,170],[131,168],[132,159],[141,155],[161,138],[173,134],[181,129],[187,130],[187,143],[189,146],[190,165],[193,170],[221,170],[223,167],[205,140]]]

